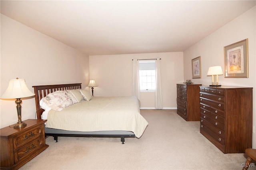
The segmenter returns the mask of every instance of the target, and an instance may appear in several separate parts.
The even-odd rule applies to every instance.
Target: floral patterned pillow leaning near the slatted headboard
[[[42,100],[51,107],[51,109],[56,111],[61,111],[68,106],[78,103],[76,97],[70,90],[52,92]]]

